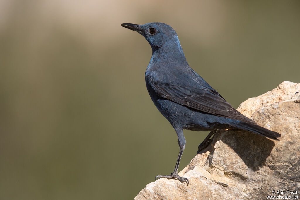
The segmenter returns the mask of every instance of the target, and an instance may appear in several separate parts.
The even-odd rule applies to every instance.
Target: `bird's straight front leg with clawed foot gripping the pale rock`
[[[182,156],[182,152],[185,148],[185,138],[184,138],[184,135],[183,135],[183,130],[181,128],[175,128],[175,130],[176,130],[176,133],[177,133],[177,136],[178,136],[178,143],[179,143],[180,151],[179,151],[179,154],[178,154],[178,158],[177,158],[177,162],[176,162],[174,172],[171,173],[171,175],[157,175],[155,177],[155,180],[157,178],[167,178],[167,179],[174,178],[174,179],[178,179],[181,182],[186,182],[187,185],[188,185],[189,184],[188,179],[184,178],[184,177],[180,177],[179,174],[178,174],[178,167],[179,167],[180,159],[181,159],[181,156]]]

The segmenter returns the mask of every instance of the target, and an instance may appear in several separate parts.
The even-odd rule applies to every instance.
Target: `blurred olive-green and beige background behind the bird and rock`
[[[300,82],[300,1],[0,0],[0,199],[133,199],[179,152],[145,85],[164,22],[235,108]],[[205,132],[185,131],[179,170]]]

